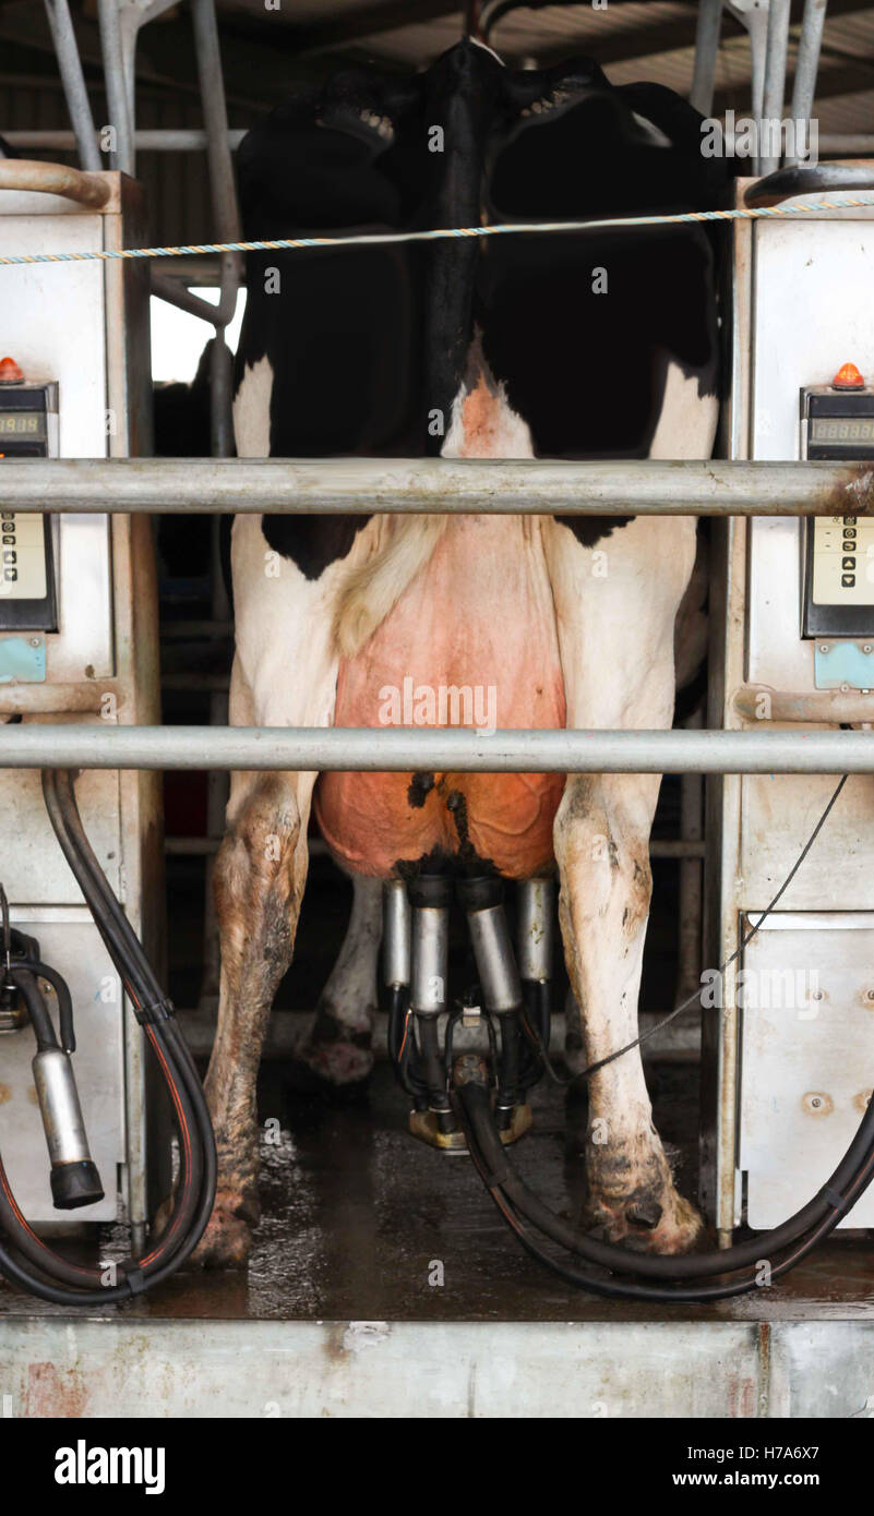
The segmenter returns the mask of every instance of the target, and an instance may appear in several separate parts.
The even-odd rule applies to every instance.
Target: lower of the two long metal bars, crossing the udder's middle
[[[401,726],[0,728],[3,769],[466,773],[871,773],[874,732],[414,731]]]

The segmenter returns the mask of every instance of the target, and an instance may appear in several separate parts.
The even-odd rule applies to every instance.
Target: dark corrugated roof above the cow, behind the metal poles
[[[794,0],[792,6],[788,97],[801,3]],[[73,0],[73,11],[94,114],[105,120],[94,8]],[[423,67],[451,47],[463,27],[458,0],[285,0],[278,11],[267,11],[264,0],[218,0],[217,11],[232,126],[252,124],[300,77],[354,59],[373,58],[402,70]],[[695,20],[696,6],[689,0],[608,0],[598,11],[590,3],[520,8],[496,24],[492,42],[514,65],[589,53],[616,83],[649,79],[687,94]],[[750,45],[730,17],[722,26],[715,105],[718,111],[750,111]],[[137,111],[143,127],[202,124],[184,5],[141,35]],[[821,133],[874,133],[874,0],[830,0],[816,115]],[[0,0],[0,132],[67,126],[42,6]],[[143,153],[138,173],[147,185],[155,240],[209,236],[200,153]]]

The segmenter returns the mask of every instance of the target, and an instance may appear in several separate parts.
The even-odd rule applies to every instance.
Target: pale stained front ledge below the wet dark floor
[[[5,1417],[874,1417],[874,1320],[17,1317]]]

